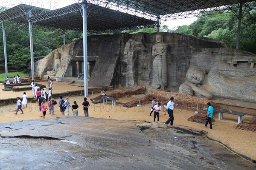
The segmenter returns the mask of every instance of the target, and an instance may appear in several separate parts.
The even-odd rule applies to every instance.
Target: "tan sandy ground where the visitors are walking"
[[[40,82],[40,84],[47,84],[46,82]],[[3,88],[3,85],[0,85],[0,88]],[[80,87],[67,85],[63,83],[55,82],[53,86],[53,93],[61,93],[63,91],[71,91],[71,90],[83,90]],[[48,92],[48,91],[47,91]],[[111,93],[111,91],[106,91],[106,94]],[[32,91],[26,91],[28,96],[32,96]],[[4,92],[0,91],[0,99],[22,96],[23,92]],[[99,96],[100,94],[94,94],[94,97]],[[63,96],[64,98],[66,96]],[[84,116],[82,109],[82,102],[84,96],[71,96],[70,103],[72,104],[74,100],[79,105],[79,116]],[[89,94],[87,97],[90,102],[90,98],[92,95]],[[136,99],[136,96],[132,96],[129,98],[120,98],[117,100],[118,103],[125,103]],[[58,99],[56,99],[58,101]],[[160,102],[160,101],[159,101]],[[41,119],[40,111],[38,110],[38,106],[35,103],[28,103],[27,108],[24,109],[24,114],[20,114],[21,111],[14,115],[14,111],[16,110],[17,105],[7,105],[0,106],[0,123],[7,122],[15,122],[20,120],[29,120],[29,119]],[[89,116],[104,118],[104,119],[119,119],[119,120],[142,120],[153,122],[152,117],[149,116],[151,109],[150,101],[149,104],[143,105],[142,107],[134,107],[134,108],[124,108],[121,104],[117,104],[115,107],[111,107],[110,104],[103,105],[103,103],[93,104],[90,102],[89,108]],[[221,141],[226,144],[233,150],[238,153],[241,153],[247,157],[250,157],[253,160],[256,160],[256,133],[235,129],[237,125],[238,117],[235,115],[224,114],[222,120],[218,120],[218,115],[214,116],[215,122],[213,122],[213,130],[209,130],[209,127],[204,127],[204,125],[189,122],[187,119],[191,116],[195,115],[192,111],[186,111],[176,108],[174,111],[175,120],[174,123],[185,125],[188,127],[194,127],[200,130],[205,130],[208,132],[210,138]],[[46,119],[62,117],[61,112],[59,111],[58,105],[55,105],[55,115],[50,116],[49,111],[47,111]],[[73,116],[73,113],[70,109],[70,116]],[[166,116],[163,115],[163,111],[160,112],[160,123],[164,123],[169,118],[168,114]],[[250,120],[251,117],[244,117],[243,121]],[[174,125],[175,125],[174,124]],[[209,126],[209,125],[208,125]]]

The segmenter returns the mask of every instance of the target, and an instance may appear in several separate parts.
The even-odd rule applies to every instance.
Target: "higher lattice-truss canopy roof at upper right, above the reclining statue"
[[[87,0],[99,6],[123,10],[151,20],[157,20],[159,16],[162,24],[166,20],[197,17],[199,14],[210,15],[213,11],[225,13],[229,9],[237,12],[240,2],[250,11],[256,9],[253,1],[255,2],[255,0]]]

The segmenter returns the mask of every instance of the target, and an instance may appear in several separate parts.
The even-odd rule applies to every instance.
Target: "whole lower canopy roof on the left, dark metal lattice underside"
[[[118,30],[140,29],[156,27],[157,22],[104,8],[95,4],[87,4],[87,31],[108,32]],[[32,17],[28,18],[28,11],[32,10]],[[81,4],[75,3],[54,11],[35,6],[20,4],[0,13],[0,21],[12,20],[17,23],[32,21],[41,27],[80,30],[83,29]],[[24,22],[27,23],[27,22]]]

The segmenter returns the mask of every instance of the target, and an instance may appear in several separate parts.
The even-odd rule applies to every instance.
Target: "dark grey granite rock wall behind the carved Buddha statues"
[[[184,82],[186,71],[191,67],[209,71],[217,60],[235,63],[237,67],[250,68],[256,55],[227,48],[224,42],[209,38],[198,38],[176,33],[160,33],[167,43],[167,89],[177,91]],[[89,86],[114,86],[133,88],[144,85],[150,88],[154,73],[152,46],[156,43],[156,33],[114,34],[87,37],[88,56],[97,56],[90,75]],[[56,77],[72,76],[71,59],[83,55],[83,40],[76,40],[55,49],[36,68],[36,74],[45,77],[54,68],[54,54],[61,54],[61,68]],[[254,65],[255,68],[255,65]]]

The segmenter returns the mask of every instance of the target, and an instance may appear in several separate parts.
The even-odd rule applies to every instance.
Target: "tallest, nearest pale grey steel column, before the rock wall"
[[[84,97],[88,96],[88,69],[87,69],[87,4],[83,0],[83,48],[84,48]]]

